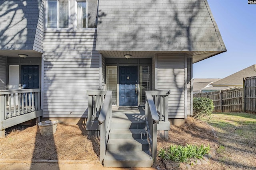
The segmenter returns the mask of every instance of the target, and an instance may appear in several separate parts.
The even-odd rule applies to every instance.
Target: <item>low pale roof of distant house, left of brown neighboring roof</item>
[[[200,92],[203,88],[209,86],[213,82],[220,80],[220,78],[194,78],[193,92]]]

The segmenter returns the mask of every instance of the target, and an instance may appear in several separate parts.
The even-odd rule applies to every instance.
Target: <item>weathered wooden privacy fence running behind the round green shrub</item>
[[[214,112],[239,112],[256,114],[256,76],[244,78],[244,88],[193,94],[213,100]]]

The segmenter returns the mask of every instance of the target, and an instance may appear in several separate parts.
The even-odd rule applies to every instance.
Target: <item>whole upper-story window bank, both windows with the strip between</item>
[[[46,0],[46,29],[97,27],[98,0]]]

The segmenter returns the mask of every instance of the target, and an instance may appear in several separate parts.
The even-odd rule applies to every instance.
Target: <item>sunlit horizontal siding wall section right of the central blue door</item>
[[[185,113],[185,69],[184,55],[158,55],[157,86],[160,90],[170,90],[168,100],[169,118],[184,118]]]

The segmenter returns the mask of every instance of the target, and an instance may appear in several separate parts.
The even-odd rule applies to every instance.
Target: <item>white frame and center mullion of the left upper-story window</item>
[[[68,28],[59,28],[59,1],[57,0],[57,28],[48,28],[48,1],[55,0],[46,0],[45,1],[45,28],[46,29],[70,29],[70,1],[68,0]]]

